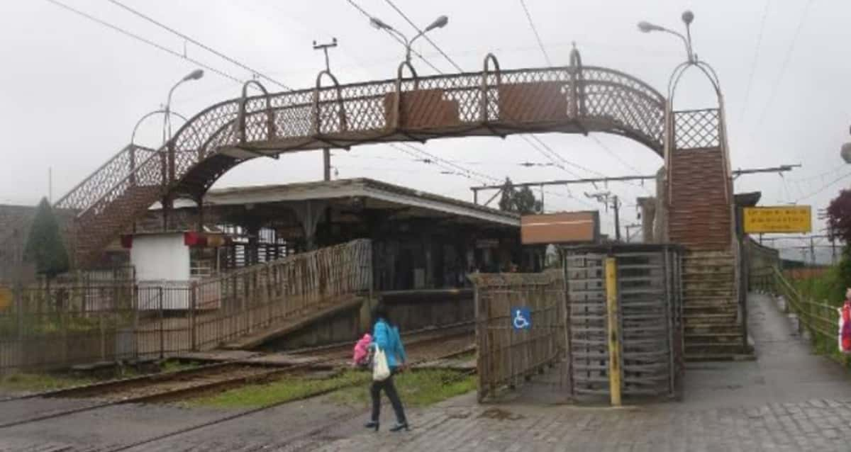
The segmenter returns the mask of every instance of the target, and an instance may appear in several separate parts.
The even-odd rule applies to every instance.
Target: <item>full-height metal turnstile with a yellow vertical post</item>
[[[680,248],[564,249],[570,393],[676,397],[683,373]]]

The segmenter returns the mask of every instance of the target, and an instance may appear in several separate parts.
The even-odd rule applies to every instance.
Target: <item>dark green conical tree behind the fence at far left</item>
[[[47,198],[38,203],[36,218],[32,220],[30,236],[26,240],[24,258],[35,264],[36,272],[45,275],[48,280],[68,271],[68,251]]]

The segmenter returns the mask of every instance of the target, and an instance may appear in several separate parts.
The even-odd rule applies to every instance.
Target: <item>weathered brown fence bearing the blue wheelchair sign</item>
[[[564,351],[564,280],[544,274],[474,274],[478,398],[514,387]],[[517,320],[523,308],[523,321]],[[528,311],[526,310],[528,309]],[[528,318],[526,318],[528,316]]]

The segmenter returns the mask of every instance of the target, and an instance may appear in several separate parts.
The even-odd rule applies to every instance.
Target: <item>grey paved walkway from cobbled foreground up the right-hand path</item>
[[[410,432],[361,433],[323,446],[354,450],[851,450],[851,381],[810,352],[774,300],[749,302],[757,361],[690,365],[683,403],[622,409],[459,398],[412,416]],[[389,417],[389,416],[386,416]]]

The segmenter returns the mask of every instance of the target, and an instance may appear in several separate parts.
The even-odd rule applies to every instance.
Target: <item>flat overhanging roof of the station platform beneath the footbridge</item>
[[[362,199],[369,206],[377,208],[407,208],[424,216],[439,214],[442,217],[468,218],[520,227],[520,216],[515,213],[369,178],[212,189],[204,196],[204,206],[346,199]]]

